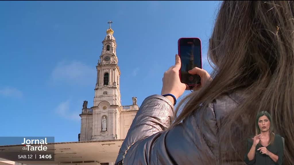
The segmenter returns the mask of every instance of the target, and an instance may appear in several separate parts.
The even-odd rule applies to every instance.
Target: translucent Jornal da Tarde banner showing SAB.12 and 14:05
[[[0,137],[0,158],[54,161],[54,137]]]

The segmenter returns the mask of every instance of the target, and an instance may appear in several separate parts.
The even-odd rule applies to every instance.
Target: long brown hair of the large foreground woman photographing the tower
[[[256,114],[267,110],[285,138],[285,164],[294,162],[293,1],[223,1],[209,41],[212,80],[181,100],[171,128],[213,100],[242,91],[243,101],[218,125],[219,162],[242,161]],[[200,106],[201,105],[201,106]],[[205,121],[205,118],[202,118]],[[228,131],[221,131],[228,130]],[[204,130],[205,131],[205,130]],[[223,153],[226,154],[223,154]]]

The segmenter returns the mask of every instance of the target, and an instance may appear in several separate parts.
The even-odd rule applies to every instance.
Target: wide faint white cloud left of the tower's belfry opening
[[[93,83],[96,79],[96,74],[95,67],[92,68],[77,61],[59,62],[53,69],[51,78],[54,82]]]

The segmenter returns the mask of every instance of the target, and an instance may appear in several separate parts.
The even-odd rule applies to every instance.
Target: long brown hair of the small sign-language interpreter
[[[270,116],[270,114],[267,112],[267,111],[260,111],[258,112],[258,114],[256,115],[256,118],[255,118],[255,135],[258,135],[260,134],[260,128],[259,128],[259,125],[258,125],[258,122],[259,122],[259,118],[262,117],[262,116],[266,116],[270,122],[270,129],[269,129],[269,137],[270,139],[268,140],[268,144],[273,144],[274,140],[275,140],[275,134],[273,133],[273,120],[272,120],[272,117]]]

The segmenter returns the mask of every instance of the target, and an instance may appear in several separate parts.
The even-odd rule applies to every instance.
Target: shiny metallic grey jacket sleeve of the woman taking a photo
[[[173,129],[171,102],[161,95],[147,97],[131,124],[116,164],[203,164],[200,151],[216,159],[216,117],[213,105],[204,109],[206,122],[200,123],[198,113],[190,115]],[[200,129],[204,130],[200,133]],[[207,140],[209,139],[209,140]]]

